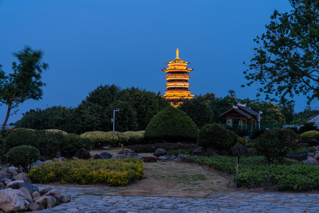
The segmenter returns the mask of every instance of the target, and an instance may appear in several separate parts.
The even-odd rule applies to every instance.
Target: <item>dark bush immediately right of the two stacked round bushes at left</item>
[[[35,134],[39,137],[39,151],[40,155],[46,155],[54,158],[58,151],[60,151],[60,144],[63,142],[64,134],[59,131],[38,130]]]

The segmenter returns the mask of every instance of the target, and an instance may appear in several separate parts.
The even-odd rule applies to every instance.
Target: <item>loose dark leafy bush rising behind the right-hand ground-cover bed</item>
[[[289,150],[297,147],[300,137],[290,129],[274,128],[266,130],[254,144],[254,148],[263,154],[268,162],[282,161]]]

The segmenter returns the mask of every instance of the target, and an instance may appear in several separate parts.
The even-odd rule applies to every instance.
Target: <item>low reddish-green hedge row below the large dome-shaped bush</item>
[[[177,144],[177,143],[155,143],[155,144],[140,144],[140,145],[132,145],[132,146],[125,146],[124,148],[132,149],[136,153],[149,153],[155,152],[156,149],[162,148],[165,150],[176,150],[179,147],[182,149],[195,149],[197,148],[197,144],[189,143],[189,144]]]

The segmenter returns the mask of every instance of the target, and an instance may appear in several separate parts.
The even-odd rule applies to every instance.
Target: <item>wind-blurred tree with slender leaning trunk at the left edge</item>
[[[41,81],[41,73],[42,70],[48,69],[48,64],[42,62],[41,50],[32,50],[26,46],[22,51],[13,53],[13,56],[17,57],[19,64],[12,62],[13,73],[0,79],[0,102],[1,105],[8,105],[3,129],[9,119],[11,109],[18,107],[20,103],[28,99],[41,99],[43,94],[41,87],[45,86],[45,83]]]

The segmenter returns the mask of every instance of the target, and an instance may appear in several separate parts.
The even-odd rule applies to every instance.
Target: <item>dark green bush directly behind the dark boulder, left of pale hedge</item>
[[[94,142],[88,138],[82,138],[77,134],[67,134],[60,143],[61,156],[72,157],[79,149],[84,148],[90,151]]]

